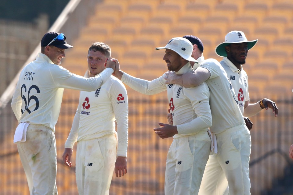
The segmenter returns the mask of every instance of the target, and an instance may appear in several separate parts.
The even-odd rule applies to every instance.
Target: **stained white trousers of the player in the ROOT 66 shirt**
[[[31,195],[57,195],[55,134],[44,125],[30,124],[26,141],[17,149]]]

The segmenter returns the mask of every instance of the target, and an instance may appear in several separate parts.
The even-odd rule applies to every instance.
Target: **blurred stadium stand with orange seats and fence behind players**
[[[259,40],[248,52],[244,65],[251,103],[269,98],[279,108],[277,118],[270,111],[250,118],[254,123],[251,194],[293,194],[293,160],[288,158],[289,147],[293,144],[292,0],[52,2],[51,7],[42,2],[32,7],[46,9],[49,13],[40,14],[32,9],[32,15],[39,14],[34,21],[17,21],[13,14],[11,19],[0,20],[0,194],[29,194],[17,147],[13,144],[17,121],[10,103],[19,71],[40,52],[40,40],[47,31],[65,33],[67,42],[74,46],[66,50],[61,64],[73,73],[84,75],[89,46],[102,41],[110,45],[111,57],[119,59],[123,71],[152,80],[167,70],[162,60],[164,51],[155,51],[155,47],[165,46],[172,37],[195,35],[204,44],[206,59],[221,60],[214,50],[231,30],[243,31],[248,40]],[[2,4],[0,10],[4,7]],[[56,12],[56,8],[64,9]],[[165,160],[172,138],[159,139],[153,128],[158,127],[158,122],[167,123],[166,94],[146,96],[126,87],[129,97],[128,173],[123,178],[113,177],[110,194],[164,194]],[[65,195],[78,194],[74,167],[62,163],[64,142],[71,129],[78,95],[78,91],[64,90],[56,124],[57,187],[59,194]]]

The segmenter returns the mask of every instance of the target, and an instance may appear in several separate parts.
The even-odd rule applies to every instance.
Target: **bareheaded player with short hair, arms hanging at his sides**
[[[93,43],[88,51],[89,69],[85,77],[101,74],[110,55],[107,44]],[[72,165],[72,148],[76,141],[78,193],[109,194],[114,168],[116,176],[118,172],[120,177],[127,172],[128,98],[125,86],[116,77],[111,75],[95,91],[80,92],[78,108],[65,142],[63,161],[67,166]]]

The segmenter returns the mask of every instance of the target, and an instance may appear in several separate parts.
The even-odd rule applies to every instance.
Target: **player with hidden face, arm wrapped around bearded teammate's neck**
[[[212,112],[210,130],[217,138],[217,161],[231,183],[231,194],[249,194],[250,133],[223,67],[215,59],[207,59],[193,73],[183,76],[166,73],[165,76],[167,83],[183,83],[185,87],[197,86],[206,81],[210,90]]]

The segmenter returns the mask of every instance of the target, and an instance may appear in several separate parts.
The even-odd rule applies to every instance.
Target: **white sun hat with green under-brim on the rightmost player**
[[[247,43],[248,50],[250,50],[256,43],[258,39],[253,41],[248,41],[242,31],[234,30],[226,34],[225,42],[220,43],[216,48],[215,52],[221,57],[227,57],[227,52],[225,46],[231,43]]]

